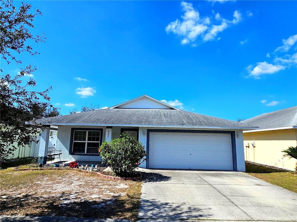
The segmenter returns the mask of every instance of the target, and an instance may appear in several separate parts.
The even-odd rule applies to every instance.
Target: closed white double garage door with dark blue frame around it
[[[231,135],[150,132],[149,168],[233,170]]]

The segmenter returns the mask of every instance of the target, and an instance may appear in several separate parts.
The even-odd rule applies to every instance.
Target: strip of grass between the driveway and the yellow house
[[[251,162],[246,162],[245,167],[247,174],[297,193],[296,173]]]

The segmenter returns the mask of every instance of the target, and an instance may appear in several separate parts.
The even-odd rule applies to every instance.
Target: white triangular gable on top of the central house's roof
[[[154,99],[150,96],[143,95],[135,99],[123,102],[116,106],[110,107],[110,109],[170,109],[170,110],[180,110],[176,107],[170,106],[164,102]]]

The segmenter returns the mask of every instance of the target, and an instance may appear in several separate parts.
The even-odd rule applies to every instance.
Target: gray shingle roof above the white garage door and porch
[[[53,125],[135,125],[135,126],[210,126],[219,128],[255,128],[244,123],[211,117],[193,112],[169,109],[104,109],[74,113],[37,120]]]

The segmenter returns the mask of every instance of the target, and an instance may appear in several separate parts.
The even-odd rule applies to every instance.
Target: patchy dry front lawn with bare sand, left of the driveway
[[[136,220],[141,182],[76,170],[1,170],[1,214]]]

